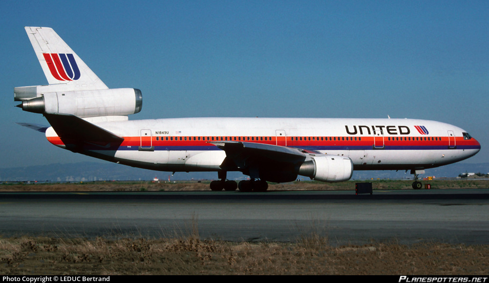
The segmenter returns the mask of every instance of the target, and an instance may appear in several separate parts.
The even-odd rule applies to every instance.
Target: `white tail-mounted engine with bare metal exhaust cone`
[[[141,111],[143,96],[138,89],[105,89],[44,93],[17,105],[34,113],[71,114],[80,118],[127,116]]]

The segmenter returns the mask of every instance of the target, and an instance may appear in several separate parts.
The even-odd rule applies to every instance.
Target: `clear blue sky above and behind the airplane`
[[[141,113],[422,118],[467,130],[489,161],[489,1],[0,1],[0,167],[95,161],[15,122],[46,84],[24,26],[52,27]]]

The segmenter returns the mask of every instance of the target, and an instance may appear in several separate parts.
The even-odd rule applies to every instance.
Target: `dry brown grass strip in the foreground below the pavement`
[[[5,275],[438,274],[487,275],[489,246],[423,243],[232,243],[179,239],[0,238]]]

